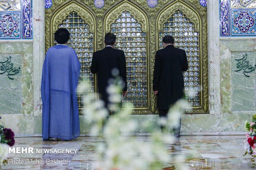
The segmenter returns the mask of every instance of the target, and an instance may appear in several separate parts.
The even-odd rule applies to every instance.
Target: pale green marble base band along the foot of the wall
[[[244,122],[251,121],[251,114],[184,114],[182,116],[181,135],[243,135]],[[159,115],[131,115],[139,123],[134,135],[150,135],[156,130],[160,131]],[[86,116],[80,118],[80,135],[93,135],[90,128],[93,123],[88,123]],[[14,120],[14,121],[13,121]],[[14,122],[10,124],[9,122]],[[42,116],[4,116],[0,122],[12,128],[17,136],[41,136]],[[171,133],[171,130],[170,130]]]

